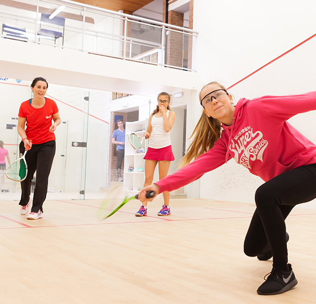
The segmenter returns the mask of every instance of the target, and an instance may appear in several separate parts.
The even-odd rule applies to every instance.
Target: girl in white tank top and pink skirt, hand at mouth
[[[159,179],[164,178],[168,174],[170,162],[174,160],[170,131],[174,123],[175,114],[169,106],[170,95],[166,92],[161,92],[158,95],[158,105],[152,112],[148,127],[144,136],[150,138],[149,147],[144,157],[145,159],[145,183],[144,187],[150,185],[154,178],[155,168],[158,164]],[[169,215],[169,192],[163,192],[164,204],[158,215]],[[147,215],[147,202],[135,213],[136,216]]]

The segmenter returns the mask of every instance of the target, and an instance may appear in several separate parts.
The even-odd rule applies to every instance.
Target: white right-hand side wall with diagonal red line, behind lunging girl
[[[194,29],[199,39],[194,68],[204,84],[216,80],[229,87],[313,35],[315,12],[316,2],[310,0],[196,1]],[[313,38],[230,92],[238,100],[316,90],[315,50]],[[316,143],[316,112],[298,115],[290,122]],[[201,178],[200,197],[253,203],[261,183],[247,169],[229,161]]]

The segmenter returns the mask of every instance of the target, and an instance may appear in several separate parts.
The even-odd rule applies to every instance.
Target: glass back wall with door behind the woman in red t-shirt
[[[29,85],[30,82],[12,79],[0,81],[3,96],[0,140],[4,141],[11,162],[19,158],[21,138],[17,133],[17,117],[20,104],[32,96]],[[110,92],[49,84],[46,97],[56,102],[61,117],[61,124],[55,131],[56,154],[49,177],[47,200],[103,198],[109,150],[107,116],[110,115],[105,107]],[[35,182],[36,174],[33,184]],[[20,199],[18,182],[5,177],[3,186],[0,200]]]

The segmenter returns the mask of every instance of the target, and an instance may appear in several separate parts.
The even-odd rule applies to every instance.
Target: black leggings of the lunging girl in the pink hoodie
[[[295,205],[316,198],[316,164],[301,166],[275,176],[256,191],[257,209],[244,240],[244,253],[257,256],[269,243],[273,267],[288,263],[285,219]]]

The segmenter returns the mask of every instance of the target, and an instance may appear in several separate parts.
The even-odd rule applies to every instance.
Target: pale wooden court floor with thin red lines
[[[274,296],[256,290],[271,260],[243,254],[255,206],[171,200],[171,215],[135,217],[132,201],[98,221],[100,201],[46,201],[27,220],[18,202],[0,202],[0,303],[316,303],[316,209],[287,219],[289,261],[298,285]]]

